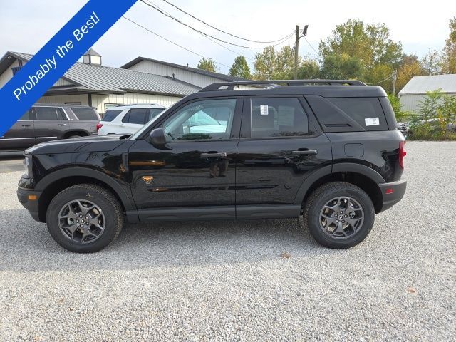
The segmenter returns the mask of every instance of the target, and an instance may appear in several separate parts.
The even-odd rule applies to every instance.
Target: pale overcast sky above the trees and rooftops
[[[162,0],[151,0],[160,8],[195,28],[239,45],[265,44],[239,41],[198,23]],[[385,23],[391,38],[402,41],[405,53],[424,56],[440,50],[448,36],[448,21],[456,15],[456,1],[308,1],[308,0],[168,0],[209,24],[237,36],[257,41],[271,41],[291,33],[296,24],[309,25],[308,41],[318,50],[318,42],[331,34],[336,24],[358,18],[365,22]],[[71,16],[81,9],[83,0],[0,0],[0,55],[6,51],[36,53]],[[115,4],[115,1],[106,1]],[[125,16],[202,56],[219,62],[217,68],[227,73],[235,53],[200,36],[154,9],[137,4]],[[294,36],[286,44],[294,44]],[[253,58],[257,51],[228,46]],[[200,57],[163,41],[152,33],[120,19],[93,46],[103,56],[103,65],[121,66],[138,56],[196,66]],[[301,56],[315,56],[311,46],[301,39]],[[252,61],[247,59],[252,66]],[[224,66],[224,65],[226,66]]]

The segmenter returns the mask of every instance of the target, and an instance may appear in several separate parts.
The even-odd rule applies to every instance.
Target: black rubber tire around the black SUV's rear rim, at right
[[[334,229],[335,231],[337,229],[336,224],[341,223],[333,222],[331,225],[333,225],[332,227],[334,228],[331,228],[331,225],[328,225],[329,221],[322,219],[321,215],[323,209],[325,207],[328,208],[326,204],[330,203],[330,201],[336,197],[350,197],[351,199],[354,199],[352,202],[357,202],[356,204],[359,204],[362,209],[363,220],[361,221],[361,219],[357,218],[359,222],[356,221],[356,224],[358,225],[353,224],[356,229],[350,224],[344,223],[347,228],[343,229],[343,233],[331,235],[328,230]],[[339,203],[346,205],[343,201],[344,199]],[[353,205],[356,206],[356,204]],[[356,210],[358,210],[359,213],[359,209]],[[329,210],[329,212],[331,212],[331,210]],[[333,214],[338,215],[335,211],[333,211]],[[342,215],[342,217],[343,216],[344,215]],[[375,219],[375,209],[371,198],[360,187],[347,182],[330,182],[318,187],[312,192],[304,206],[303,218],[304,224],[307,224],[309,232],[319,244],[333,249],[347,249],[362,242],[371,232]],[[331,220],[335,219],[339,219],[339,217],[331,218]],[[348,219],[350,219],[350,217],[348,217]],[[346,222],[345,219],[343,222]],[[328,229],[325,229],[323,225],[327,225]],[[343,224],[341,224],[341,227],[343,227]],[[337,234],[342,236],[337,237]],[[348,236],[346,236],[346,234]]]

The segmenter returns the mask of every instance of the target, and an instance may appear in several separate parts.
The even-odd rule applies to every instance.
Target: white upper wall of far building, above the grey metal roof
[[[209,84],[212,83],[224,82],[224,80],[221,80],[220,78],[200,75],[199,73],[195,73],[190,70],[187,71],[180,68],[173,68],[172,66],[165,66],[161,63],[155,63],[151,61],[140,61],[134,66],[131,66],[129,69],[134,71],[141,71],[142,73],[152,73],[154,75],[170,77],[172,77],[172,73],[174,73],[175,78],[178,80],[195,84],[195,86],[199,86],[201,88],[209,86]]]

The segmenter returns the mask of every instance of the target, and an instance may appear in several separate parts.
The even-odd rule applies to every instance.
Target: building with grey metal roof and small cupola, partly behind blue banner
[[[0,59],[0,88],[32,57],[7,52]],[[102,66],[101,56],[93,49],[83,56],[83,61],[86,63],[75,63],[38,102],[92,105],[98,113],[105,113],[106,108],[117,104],[170,106],[201,88],[172,76]]]

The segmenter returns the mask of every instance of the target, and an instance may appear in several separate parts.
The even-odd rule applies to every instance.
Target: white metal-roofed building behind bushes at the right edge
[[[447,95],[456,95],[456,74],[413,77],[398,93],[402,109],[418,112],[426,92],[437,89]]]

